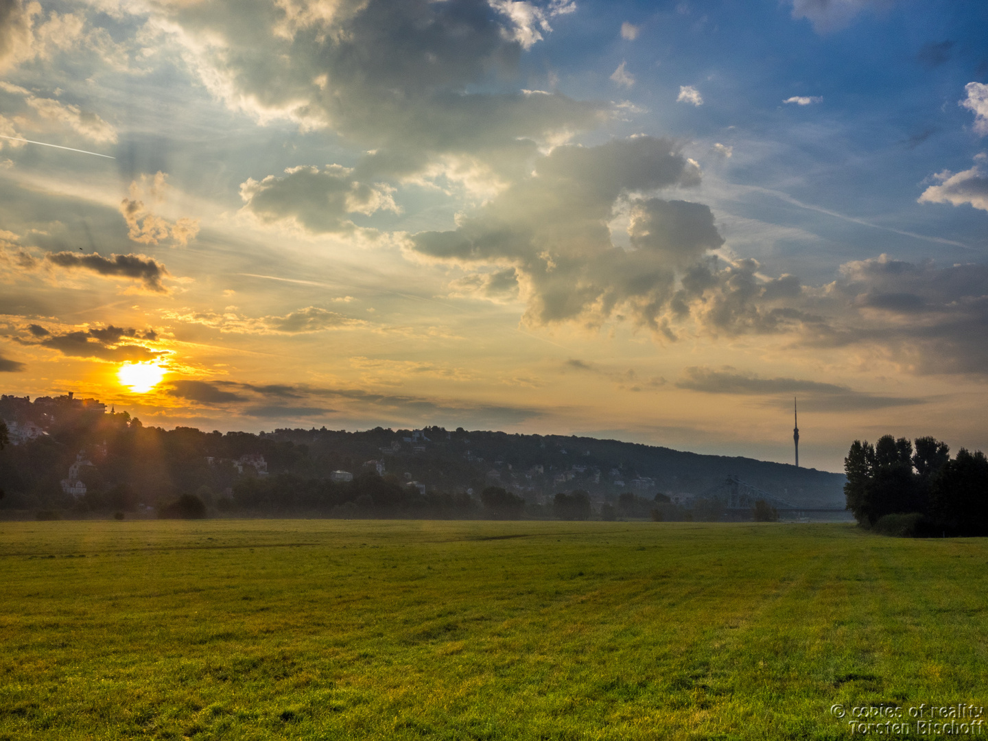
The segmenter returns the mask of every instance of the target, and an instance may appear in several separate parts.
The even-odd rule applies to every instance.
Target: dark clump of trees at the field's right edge
[[[889,535],[988,535],[988,458],[932,437],[856,440],[844,459],[847,507]]]

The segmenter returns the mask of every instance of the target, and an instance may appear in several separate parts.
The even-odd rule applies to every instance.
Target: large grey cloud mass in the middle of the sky
[[[626,312],[637,324],[653,326],[675,290],[677,270],[723,240],[707,206],[640,194],[699,183],[696,163],[669,139],[560,146],[535,162],[534,174],[462,215],[453,231],[411,236],[409,254],[510,269],[532,324],[599,326]],[[616,208],[628,212],[630,250],[611,240],[608,223]],[[510,283],[510,275],[501,277]]]

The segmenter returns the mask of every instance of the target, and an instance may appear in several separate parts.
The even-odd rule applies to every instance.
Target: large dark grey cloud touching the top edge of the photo
[[[329,127],[372,152],[353,174],[372,184],[419,175],[447,156],[494,173],[524,172],[539,142],[606,122],[600,103],[481,92],[514,73],[521,55],[550,33],[551,18],[574,10],[556,0],[285,0],[254,6],[245,27],[240,3],[216,0],[208,13],[197,4],[158,4],[151,26],[183,44],[194,73],[230,108],[261,121]],[[338,214],[325,223],[312,218],[333,230]]]

